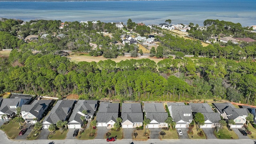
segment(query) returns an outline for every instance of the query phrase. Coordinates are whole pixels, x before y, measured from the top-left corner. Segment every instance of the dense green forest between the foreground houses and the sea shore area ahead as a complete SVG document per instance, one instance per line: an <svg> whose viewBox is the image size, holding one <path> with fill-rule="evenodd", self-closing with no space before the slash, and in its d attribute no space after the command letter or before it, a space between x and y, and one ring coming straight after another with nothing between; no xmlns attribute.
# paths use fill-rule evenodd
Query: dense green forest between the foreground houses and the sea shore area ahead
<svg viewBox="0 0 256 144"><path fill-rule="evenodd" d="M63 29L58 28L61 24L58 20L30 21L23 26L21 23L21 20L11 19L0 22L0 48L12 49L10 56L0 57L0 92L58 98L78 94L80 99L95 100L256 102L255 43L227 46L217 43L203 47L200 41L157 28L155 31L161 33L156 35L159 46L150 53L162 58L158 63L150 59L74 63L55 52L90 51L122 56L122 52L137 51L138 47L116 45L126 33L111 23L65 22ZM131 24L136 31L134 23ZM147 27L144 28L139 26L148 37ZM101 32L110 32L112 38ZM24 42L18 38L30 34L39 35L38 40ZM49 35L41 38L42 34ZM67 36L57 38L57 34ZM98 45L96 50L90 43ZM39 52L34 53L34 50ZM194 54L194 57L187 58L184 54Z"/></svg>

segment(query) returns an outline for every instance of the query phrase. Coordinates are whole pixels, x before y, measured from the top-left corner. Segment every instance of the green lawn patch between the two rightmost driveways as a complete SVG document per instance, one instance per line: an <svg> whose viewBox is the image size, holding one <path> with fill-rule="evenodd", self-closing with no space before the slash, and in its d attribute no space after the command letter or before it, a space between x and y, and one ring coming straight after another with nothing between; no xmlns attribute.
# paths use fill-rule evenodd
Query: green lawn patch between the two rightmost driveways
<svg viewBox="0 0 256 144"><path fill-rule="evenodd" d="M219 139L238 139L238 136L236 133L232 130L228 130L226 126L224 126L219 132L217 133L216 130L214 131L214 134Z"/></svg>

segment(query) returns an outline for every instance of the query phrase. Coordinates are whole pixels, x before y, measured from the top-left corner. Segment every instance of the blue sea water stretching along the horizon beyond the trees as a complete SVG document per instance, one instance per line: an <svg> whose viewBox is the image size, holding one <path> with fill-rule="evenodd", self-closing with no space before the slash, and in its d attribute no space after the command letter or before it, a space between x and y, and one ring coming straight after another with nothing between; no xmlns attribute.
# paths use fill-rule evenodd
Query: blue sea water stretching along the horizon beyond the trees
<svg viewBox="0 0 256 144"><path fill-rule="evenodd" d="M255 0L0 2L0 17L30 20L133 22L203 25L218 19L256 25Z"/></svg>

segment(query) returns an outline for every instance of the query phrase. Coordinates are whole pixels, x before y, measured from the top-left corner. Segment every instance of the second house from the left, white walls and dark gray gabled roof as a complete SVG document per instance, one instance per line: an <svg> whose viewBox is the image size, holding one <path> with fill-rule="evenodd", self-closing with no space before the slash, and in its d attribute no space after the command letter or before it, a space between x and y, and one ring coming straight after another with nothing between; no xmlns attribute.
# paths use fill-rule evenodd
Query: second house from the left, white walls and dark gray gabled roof
<svg viewBox="0 0 256 144"><path fill-rule="evenodd" d="M52 100L34 100L32 104L23 104L21 106L21 116L26 123L35 124L41 120L42 115L50 106ZM36 120L35 120L36 119Z"/></svg>

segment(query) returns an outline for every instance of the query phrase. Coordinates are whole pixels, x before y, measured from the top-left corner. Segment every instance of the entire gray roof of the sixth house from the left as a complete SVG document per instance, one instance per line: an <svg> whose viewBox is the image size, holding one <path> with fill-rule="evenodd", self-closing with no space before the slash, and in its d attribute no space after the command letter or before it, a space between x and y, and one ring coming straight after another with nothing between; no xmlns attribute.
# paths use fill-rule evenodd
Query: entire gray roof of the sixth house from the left
<svg viewBox="0 0 256 144"><path fill-rule="evenodd" d="M122 122L129 120L132 123L143 122L143 113L140 103L122 103Z"/></svg>

